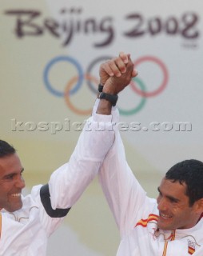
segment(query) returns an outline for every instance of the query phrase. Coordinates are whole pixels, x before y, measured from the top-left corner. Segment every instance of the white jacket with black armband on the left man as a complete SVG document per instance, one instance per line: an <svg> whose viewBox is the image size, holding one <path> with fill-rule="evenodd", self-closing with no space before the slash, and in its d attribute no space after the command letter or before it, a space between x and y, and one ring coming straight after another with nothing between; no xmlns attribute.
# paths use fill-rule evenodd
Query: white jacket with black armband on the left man
<svg viewBox="0 0 203 256"><path fill-rule="evenodd" d="M88 119L70 162L51 175L50 202L54 210L70 208L77 202L86 186L98 174L105 154L113 144L113 131L109 132L112 130L112 116L105 116L105 123L98 127L100 118L102 116L94 114ZM29 195L22 197L22 209L14 213L3 209L0 211L1 256L46 255L47 238L63 218L51 218L46 213L40 196L41 187L34 186Z"/></svg>

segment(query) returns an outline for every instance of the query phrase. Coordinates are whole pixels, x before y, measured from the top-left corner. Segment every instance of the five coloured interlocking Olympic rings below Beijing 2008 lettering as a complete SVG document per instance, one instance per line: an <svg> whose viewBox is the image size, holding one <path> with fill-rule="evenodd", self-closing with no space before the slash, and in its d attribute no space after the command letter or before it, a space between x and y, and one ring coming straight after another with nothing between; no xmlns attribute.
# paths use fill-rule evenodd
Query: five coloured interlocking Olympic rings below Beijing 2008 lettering
<svg viewBox="0 0 203 256"><path fill-rule="evenodd" d="M54 94L57 97L65 98L66 105L76 114L80 115L90 115L92 112L92 108L88 110L79 109L77 106L74 106L73 102L70 101L70 96L76 94L78 90L81 89L82 84L84 81L86 81L87 86L89 89L94 93L98 94L98 78L95 78L94 75L92 75L92 70L94 69L94 66L96 66L99 62L104 62L106 59L110 59L112 56L102 56L95 58L94 61L90 62L90 65L87 67L86 73L83 72L82 66L80 63L70 56L58 56L56 58L53 58L48 62L48 64L45 67L43 79L46 85L47 90L50 91L51 94ZM78 72L78 75L71 78L69 82L66 84L66 88L64 91L55 89L52 83L50 82L50 73L52 68L60 63L60 62L68 62L72 66L74 66ZM159 58L154 56L144 56L141 58L137 58L137 60L134 61L134 66L137 69L137 66L141 65L144 62L152 62L153 64L157 65L159 70L161 70L161 73L163 74L163 78L160 82L160 84L157 86L157 89L153 91L147 91L145 83L141 80L141 78L133 78L130 82L130 90L132 90L135 94L141 97L140 102L136 106L134 106L130 110L123 110L118 106L118 110L120 114L122 115L131 115L136 114L138 111L140 111L143 106L145 106L146 98L157 96L157 94L161 94L163 90L165 90L165 86L167 85L169 81L169 73L168 70L164 64ZM137 69L138 70L138 69Z"/></svg>

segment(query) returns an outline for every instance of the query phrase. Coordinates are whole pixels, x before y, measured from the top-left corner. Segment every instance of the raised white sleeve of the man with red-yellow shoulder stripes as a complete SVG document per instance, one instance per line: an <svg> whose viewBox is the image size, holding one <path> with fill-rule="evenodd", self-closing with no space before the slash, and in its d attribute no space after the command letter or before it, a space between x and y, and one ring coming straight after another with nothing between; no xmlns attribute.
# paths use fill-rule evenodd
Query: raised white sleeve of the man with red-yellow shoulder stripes
<svg viewBox="0 0 203 256"><path fill-rule="evenodd" d="M126 162L125 149L116 126L114 130L115 141L99 171L99 181L122 235L132 229L140 218L147 198Z"/></svg>

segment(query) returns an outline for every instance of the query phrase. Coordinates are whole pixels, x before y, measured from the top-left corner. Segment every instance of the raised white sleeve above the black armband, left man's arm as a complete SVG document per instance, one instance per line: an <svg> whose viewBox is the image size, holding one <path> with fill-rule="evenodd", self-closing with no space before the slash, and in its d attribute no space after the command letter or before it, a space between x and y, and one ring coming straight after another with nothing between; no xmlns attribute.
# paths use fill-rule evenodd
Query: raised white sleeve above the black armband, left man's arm
<svg viewBox="0 0 203 256"><path fill-rule="evenodd" d="M50 177L50 199L53 209L74 205L98 174L105 155L113 145L112 115L94 114L86 122L70 162L55 170Z"/></svg>

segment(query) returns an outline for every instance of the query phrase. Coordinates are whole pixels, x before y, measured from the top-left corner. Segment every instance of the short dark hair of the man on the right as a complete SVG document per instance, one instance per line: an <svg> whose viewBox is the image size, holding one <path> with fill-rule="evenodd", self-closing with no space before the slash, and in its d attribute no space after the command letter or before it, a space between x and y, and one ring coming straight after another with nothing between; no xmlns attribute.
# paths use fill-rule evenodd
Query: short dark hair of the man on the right
<svg viewBox="0 0 203 256"><path fill-rule="evenodd" d="M178 162L167 171L165 178L180 184L185 182L189 206L203 198L203 162L195 159Z"/></svg>

